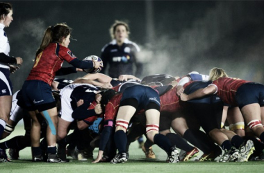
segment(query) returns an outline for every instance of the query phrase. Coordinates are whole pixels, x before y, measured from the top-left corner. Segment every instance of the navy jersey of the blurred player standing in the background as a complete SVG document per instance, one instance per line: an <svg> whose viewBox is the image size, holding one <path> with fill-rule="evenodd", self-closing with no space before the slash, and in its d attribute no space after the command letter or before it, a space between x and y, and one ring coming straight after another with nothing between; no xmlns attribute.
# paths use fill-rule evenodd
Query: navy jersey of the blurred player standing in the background
<svg viewBox="0 0 264 173"><path fill-rule="evenodd" d="M126 39L122 46L118 46L116 41L106 44L101 51L101 60L104 62L104 69L101 73L106 73L106 66L109 64L108 75L111 78L118 78L119 75L134 75L133 64L137 66L137 73L140 75L142 66L136 61L136 53L140 51L137 44Z"/></svg>

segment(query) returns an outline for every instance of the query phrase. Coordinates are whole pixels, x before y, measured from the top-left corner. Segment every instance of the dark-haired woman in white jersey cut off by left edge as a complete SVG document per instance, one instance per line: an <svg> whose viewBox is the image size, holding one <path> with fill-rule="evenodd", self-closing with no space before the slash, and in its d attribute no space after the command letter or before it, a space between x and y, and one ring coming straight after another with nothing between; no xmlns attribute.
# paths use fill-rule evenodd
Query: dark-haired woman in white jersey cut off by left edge
<svg viewBox="0 0 264 173"><path fill-rule="evenodd" d="M3 134L3 129L9 118L12 105L13 86L9 75L15 73L17 66L10 64L21 65L23 60L21 57L10 57L10 45L8 37L3 30L9 27L13 21L13 7L10 3L0 3L0 136ZM10 161L6 152L0 148L0 162Z"/></svg>

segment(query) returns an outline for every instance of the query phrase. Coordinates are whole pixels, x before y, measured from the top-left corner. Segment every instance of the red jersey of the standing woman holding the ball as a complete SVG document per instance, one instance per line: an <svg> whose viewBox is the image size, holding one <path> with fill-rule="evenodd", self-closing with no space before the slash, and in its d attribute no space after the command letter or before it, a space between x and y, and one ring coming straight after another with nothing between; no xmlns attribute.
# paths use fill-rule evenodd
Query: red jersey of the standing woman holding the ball
<svg viewBox="0 0 264 173"><path fill-rule="evenodd" d="M35 58L35 64L26 80L42 80L51 85L56 71L61 68L64 60L71 62L74 59L76 57L69 48L58 43L51 43Z"/></svg>

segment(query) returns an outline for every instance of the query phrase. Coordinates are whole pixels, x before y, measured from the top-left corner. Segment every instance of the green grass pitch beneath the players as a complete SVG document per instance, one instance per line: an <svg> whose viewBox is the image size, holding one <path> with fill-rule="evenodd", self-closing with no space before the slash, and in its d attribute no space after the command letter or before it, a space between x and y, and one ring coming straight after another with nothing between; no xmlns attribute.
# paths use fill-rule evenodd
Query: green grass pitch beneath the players
<svg viewBox="0 0 264 173"><path fill-rule="evenodd" d="M8 138L24 135L22 126L16 127ZM4 141L4 140L3 140ZM1 141L2 142L2 141ZM8 150L7 150L8 152ZM98 149L94 149L94 158ZM249 161L247 163L217 163L217 162L181 162L175 164L165 163L167 155L154 145L156 160L146 160L138 143L132 143L129 150L129 161L122 164L91 163L88 161L76 161L69 157L69 163L33 163L31 162L31 149L19 152L20 160L12 163L0 163L0 173L26 172L26 173L57 173L57 172L264 172L264 161Z"/></svg>

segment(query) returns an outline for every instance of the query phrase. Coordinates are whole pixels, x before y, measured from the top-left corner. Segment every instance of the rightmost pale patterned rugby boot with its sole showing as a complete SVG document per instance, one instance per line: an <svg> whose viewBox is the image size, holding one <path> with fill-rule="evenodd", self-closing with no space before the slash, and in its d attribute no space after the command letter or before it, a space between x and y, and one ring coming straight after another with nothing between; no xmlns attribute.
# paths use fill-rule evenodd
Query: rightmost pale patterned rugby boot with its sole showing
<svg viewBox="0 0 264 173"><path fill-rule="evenodd" d="M242 143L242 145L239 147L238 162L247 162L249 156L253 154L254 150L255 147L252 140L247 140L247 142Z"/></svg>

